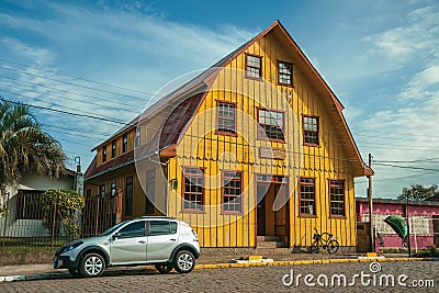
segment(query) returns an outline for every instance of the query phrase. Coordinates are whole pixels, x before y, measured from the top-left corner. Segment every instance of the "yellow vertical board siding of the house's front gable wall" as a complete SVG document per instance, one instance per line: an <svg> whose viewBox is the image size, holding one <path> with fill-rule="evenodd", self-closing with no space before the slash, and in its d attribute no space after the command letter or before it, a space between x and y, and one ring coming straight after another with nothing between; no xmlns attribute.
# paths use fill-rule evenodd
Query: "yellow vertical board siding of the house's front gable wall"
<svg viewBox="0 0 439 293"><path fill-rule="evenodd" d="M199 109L199 116L192 120L180 139L177 158L170 161L170 179L177 179L180 184L169 195L168 214L195 227L204 247L256 246L256 173L289 178L290 246L309 246L314 228L337 235L342 246L356 246L353 178L346 151L348 146L338 135L341 126L334 121L330 108L322 98L323 91L303 72L307 68L300 66L300 56L279 38L279 34L268 33L245 52L261 56L266 81L245 78L245 54L218 72ZM278 60L293 64L293 87L278 84ZM215 134L217 101L236 104L237 136ZM257 120L258 108L284 113L285 143L256 139L256 124L251 122ZM303 146L302 115L318 116L319 146ZM285 149L285 160L260 158L260 147ZM224 155L227 153L233 155L227 158ZM183 213L181 209L184 182L181 168L190 166L205 169L204 213ZM243 171L243 215L221 212L218 187L224 169ZM299 216L297 179L301 176L316 178L316 217ZM329 216L328 179L345 180L345 217Z"/></svg>

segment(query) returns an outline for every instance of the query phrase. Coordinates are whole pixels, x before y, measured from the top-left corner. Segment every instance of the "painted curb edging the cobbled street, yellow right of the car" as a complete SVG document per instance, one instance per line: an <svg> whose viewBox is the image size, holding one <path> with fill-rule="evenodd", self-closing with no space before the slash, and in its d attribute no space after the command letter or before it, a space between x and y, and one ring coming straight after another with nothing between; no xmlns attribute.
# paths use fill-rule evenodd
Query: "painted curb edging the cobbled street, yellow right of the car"
<svg viewBox="0 0 439 293"><path fill-rule="evenodd" d="M439 261L439 258L364 258L364 259L314 259L314 260L277 260L270 262L248 262L248 263L211 263L196 264L194 270L206 269L229 269L249 267L272 267L272 266L305 266L305 264L329 264L329 263L354 263L354 262L387 262L387 261ZM32 281L69 278L67 272L59 273L31 273L0 277L0 282Z"/></svg>

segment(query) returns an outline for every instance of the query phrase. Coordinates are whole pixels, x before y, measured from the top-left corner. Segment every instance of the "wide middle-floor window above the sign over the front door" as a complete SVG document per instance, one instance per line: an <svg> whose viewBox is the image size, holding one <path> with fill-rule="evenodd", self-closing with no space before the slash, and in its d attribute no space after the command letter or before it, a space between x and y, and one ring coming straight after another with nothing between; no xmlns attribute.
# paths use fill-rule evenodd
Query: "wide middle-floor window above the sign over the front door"
<svg viewBox="0 0 439 293"><path fill-rule="evenodd" d="M259 134L259 138L273 140L285 140L283 135L283 112L259 109L258 122L264 133Z"/></svg>

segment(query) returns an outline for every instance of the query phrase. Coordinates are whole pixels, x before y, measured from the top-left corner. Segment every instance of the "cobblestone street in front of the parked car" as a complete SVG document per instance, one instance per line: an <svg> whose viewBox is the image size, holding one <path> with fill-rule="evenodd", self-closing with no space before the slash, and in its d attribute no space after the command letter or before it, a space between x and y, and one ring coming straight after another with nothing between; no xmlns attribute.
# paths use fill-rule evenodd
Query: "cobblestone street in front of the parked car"
<svg viewBox="0 0 439 293"><path fill-rule="evenodd" d="M109 272L97 279L2 282L0 292L439 292L438 264L359 262L211 269L165 275Z"/></svg>

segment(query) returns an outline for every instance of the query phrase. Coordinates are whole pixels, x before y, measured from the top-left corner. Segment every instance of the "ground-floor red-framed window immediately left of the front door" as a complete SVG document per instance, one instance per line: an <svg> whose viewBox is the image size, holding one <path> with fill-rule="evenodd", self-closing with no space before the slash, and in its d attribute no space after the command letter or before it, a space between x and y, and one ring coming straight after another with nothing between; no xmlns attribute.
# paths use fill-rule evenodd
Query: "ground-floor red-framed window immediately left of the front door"
<svg viewBox="0 0 439 293"><path fill-rule="evenodd" d="M235 171L223 171L223 212L243 212L243 173Z"/></svg>

